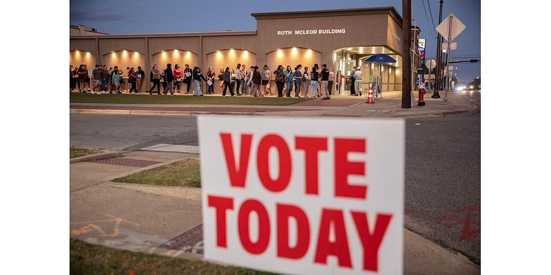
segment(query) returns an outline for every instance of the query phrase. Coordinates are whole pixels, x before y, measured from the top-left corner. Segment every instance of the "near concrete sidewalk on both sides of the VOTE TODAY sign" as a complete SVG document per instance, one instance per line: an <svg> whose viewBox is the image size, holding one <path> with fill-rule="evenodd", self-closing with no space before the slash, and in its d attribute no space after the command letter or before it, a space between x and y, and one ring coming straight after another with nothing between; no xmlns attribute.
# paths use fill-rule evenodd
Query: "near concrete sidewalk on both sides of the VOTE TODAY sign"
<svg viewBox="0 0 551 275"><path fill-rule="evenodd" d="M200 188L112 182L198 154L120 153L129 162L149 165L140 168L90 159L70 164L70 236L110 248L202 259ZM404 274L480 274L480 269L466 257L404 228Z"/></svg>

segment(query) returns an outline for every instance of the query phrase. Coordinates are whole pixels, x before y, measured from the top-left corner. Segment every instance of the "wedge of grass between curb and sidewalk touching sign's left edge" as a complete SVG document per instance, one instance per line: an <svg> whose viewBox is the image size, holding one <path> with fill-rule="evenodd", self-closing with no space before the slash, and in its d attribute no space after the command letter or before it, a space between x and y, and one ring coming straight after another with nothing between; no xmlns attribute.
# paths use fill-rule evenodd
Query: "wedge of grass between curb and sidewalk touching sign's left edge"
<svg viewBox="0 0 551 275"><path fill-rule="evenodd" d="M129 184L201 187L199 159L184 159L127 177L119 177L113 181Z"/></svg>

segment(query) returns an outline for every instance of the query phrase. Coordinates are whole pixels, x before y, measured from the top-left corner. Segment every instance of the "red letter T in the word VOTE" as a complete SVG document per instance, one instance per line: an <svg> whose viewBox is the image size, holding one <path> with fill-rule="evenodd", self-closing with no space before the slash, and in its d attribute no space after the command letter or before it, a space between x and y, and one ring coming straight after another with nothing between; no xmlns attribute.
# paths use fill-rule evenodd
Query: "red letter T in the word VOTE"
<svg viewBox="0 0 551 275"><path fill-rule="evenodd" d="M327 138L295 137L295 147L304 150L306 194L318 195L318 152L327 151Z"/></svg>

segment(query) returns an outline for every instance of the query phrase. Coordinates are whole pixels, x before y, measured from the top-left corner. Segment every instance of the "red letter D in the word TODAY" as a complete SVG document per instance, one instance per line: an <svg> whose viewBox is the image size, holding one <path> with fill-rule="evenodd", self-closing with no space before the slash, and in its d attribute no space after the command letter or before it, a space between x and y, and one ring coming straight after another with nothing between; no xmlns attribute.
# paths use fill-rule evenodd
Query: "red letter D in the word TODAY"
<svg viewBox="0 0 551 275"><path fill-rule="evenodd" d="M278 257L300 259L308 251L310 245L310 224L306 213L297 206L276 204L278 225ZM294 248L289 245L289 218L297 222L297 244Z"/></svg>

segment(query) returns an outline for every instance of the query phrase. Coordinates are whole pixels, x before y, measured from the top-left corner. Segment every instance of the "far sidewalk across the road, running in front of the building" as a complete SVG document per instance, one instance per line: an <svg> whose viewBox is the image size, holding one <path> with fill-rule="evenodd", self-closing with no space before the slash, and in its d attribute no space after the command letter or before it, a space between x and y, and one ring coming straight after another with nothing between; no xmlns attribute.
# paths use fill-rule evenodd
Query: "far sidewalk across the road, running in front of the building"
<svg viewBox="0 0 551 275"><path fill-rule="evenodd" d="M417 106L417 92L413 94L412 107L402 109L402 95L399 91L388 91L383 98L375 98L374 104L366 104L361 97L333 96L331 100L314 99L289 106L262 105L167 105L167 104L98 104L71 103L71 113L111 113L127 115L278 115L278 116L334 116L351 118L399 118L438 117L463 113L477 113L480 107L468 97L448 93L439 99L426 94L424 107ZM281 100L286 100L282 98Z"/></svg>

